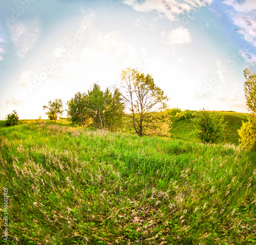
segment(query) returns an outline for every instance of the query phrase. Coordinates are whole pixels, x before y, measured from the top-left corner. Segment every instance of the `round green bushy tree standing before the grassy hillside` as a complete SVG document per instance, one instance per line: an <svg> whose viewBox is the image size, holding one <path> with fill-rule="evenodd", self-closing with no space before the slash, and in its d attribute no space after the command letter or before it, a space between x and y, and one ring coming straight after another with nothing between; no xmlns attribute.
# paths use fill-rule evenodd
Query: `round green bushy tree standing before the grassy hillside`
<svg viewBox="0 0 256 245"><path fill-rule="evenodd" d="M203 108L194 121L198 129L196 136L202 143L217 143L223 138L226 126L223 117L218 119L214 112Z"/></svg>

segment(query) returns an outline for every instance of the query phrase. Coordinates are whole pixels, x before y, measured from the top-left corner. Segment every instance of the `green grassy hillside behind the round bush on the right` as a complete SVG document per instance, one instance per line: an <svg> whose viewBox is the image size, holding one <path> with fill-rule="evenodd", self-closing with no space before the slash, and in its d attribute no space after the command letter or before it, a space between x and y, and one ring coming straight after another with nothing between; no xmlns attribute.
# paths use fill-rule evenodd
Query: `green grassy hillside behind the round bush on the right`
<svg viewBox="0 0 256 245"><path fill-rule="evenodd" d="M238 145L237 130L241 128L242 121L247 121L247 114L234 112L216 112L216 114L219 117L223 116L224 122L227 122L224 142ZM173 122L172 126L173 128L170 130L172 138L199 142L195 135L196 127L190 120L179 120Z"/></svg>

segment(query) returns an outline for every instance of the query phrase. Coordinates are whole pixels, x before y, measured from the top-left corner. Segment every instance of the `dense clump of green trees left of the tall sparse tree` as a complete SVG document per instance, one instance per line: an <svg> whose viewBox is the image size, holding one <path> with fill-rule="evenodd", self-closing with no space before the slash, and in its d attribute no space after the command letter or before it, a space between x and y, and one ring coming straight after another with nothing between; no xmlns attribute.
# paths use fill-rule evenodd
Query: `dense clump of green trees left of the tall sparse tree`
<svg viewBox="0 0 256 245"><path fill-rule="evenodd" d="M111 93L94 83L88 94L78 92L68 101L68 116L80 125L116 131L122 127L123 115L124 103L117 88Z"/></svg>

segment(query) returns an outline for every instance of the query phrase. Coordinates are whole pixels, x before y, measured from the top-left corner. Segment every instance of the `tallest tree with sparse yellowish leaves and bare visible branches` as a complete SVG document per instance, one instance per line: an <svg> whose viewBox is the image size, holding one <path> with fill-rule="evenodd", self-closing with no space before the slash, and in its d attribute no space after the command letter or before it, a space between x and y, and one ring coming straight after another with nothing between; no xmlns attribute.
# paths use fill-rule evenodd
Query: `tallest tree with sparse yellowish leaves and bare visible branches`
<svg viewBox="0 0 256 245"><path fill-rule="evenodd" d="M166 107L168 97L155 84L150 74L127 68L121 74L122 97L130 113L135 132L146 135L145 129L152 125L152 113Z"/></svg>

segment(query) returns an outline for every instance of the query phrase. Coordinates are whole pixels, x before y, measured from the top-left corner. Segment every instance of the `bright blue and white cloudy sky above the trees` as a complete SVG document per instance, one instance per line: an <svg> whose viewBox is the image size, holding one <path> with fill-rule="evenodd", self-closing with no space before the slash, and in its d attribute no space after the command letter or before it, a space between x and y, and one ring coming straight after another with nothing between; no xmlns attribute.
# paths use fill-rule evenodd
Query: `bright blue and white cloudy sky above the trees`
<svg viewBox="0 0 256 245"><path fill-rule="evenodd" d="M246 113L255 64L255 0L0 0L0 120L46 119L49 100L118 87L128 67L170 108Z"/></svg>

